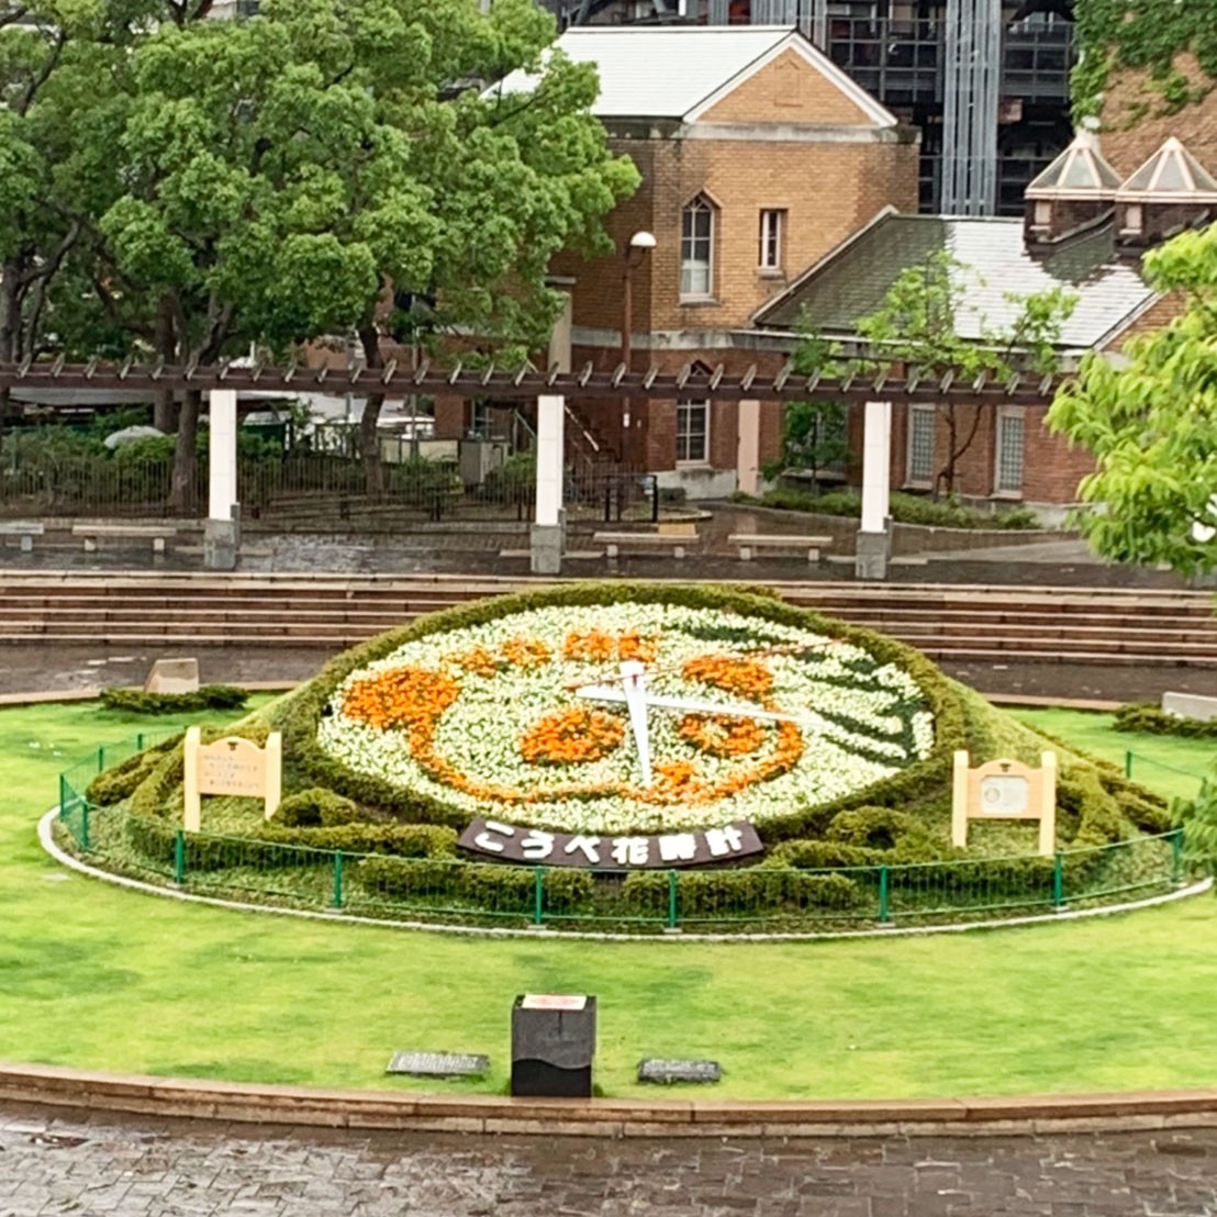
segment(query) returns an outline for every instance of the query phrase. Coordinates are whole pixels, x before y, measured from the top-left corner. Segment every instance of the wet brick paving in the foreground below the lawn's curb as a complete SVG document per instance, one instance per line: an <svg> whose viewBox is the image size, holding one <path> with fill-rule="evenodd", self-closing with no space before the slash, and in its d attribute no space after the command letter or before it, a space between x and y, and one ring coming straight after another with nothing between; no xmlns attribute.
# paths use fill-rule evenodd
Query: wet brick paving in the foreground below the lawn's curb
<svg viewBox="0 0 1217 1217"><path fill-rule="evenodd" d="M1210 1217L1217 1128L584 1139L0 1106L0 1217Z"/></svg>

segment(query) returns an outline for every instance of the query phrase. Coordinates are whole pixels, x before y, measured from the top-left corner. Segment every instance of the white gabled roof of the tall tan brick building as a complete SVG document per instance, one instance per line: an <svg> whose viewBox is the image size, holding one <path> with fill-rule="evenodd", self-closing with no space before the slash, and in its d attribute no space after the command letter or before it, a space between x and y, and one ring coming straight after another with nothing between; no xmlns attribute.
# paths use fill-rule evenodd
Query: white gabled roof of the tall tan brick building
<svg viewBox="0 0 1217 1217"><path fill-rule="evenodd" d="M576 26L557 47L577 63L595 63L604 119L668 118L692 122L779 55L795 51L845 92L876 127L897 119L801 33L786 26ZM523 92L537 84L512 72L493 89Z"/></svg>

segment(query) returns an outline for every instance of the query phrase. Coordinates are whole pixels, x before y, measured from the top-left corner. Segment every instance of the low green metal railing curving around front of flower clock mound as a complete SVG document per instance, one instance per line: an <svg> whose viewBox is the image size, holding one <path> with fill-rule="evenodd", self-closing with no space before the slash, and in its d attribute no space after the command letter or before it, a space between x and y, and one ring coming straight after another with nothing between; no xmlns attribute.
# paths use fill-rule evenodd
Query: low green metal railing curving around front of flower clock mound
<svg viewBox="0 0 1217 1217"><path fill-rule="evenodd" d="M1165 894L1184 881L1179 829L1051 858L589 871L187 834L167 819L90 803L95 775L168 738L99 748L60 775L66 843L103 869L252 903L437 924L746 933L1000 919Z"/></svg>

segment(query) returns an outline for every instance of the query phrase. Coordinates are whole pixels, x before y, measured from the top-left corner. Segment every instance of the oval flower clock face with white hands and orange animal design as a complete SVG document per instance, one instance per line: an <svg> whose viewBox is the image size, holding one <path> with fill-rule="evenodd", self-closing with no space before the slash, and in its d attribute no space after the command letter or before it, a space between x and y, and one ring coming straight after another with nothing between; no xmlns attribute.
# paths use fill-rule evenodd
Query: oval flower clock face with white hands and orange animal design
<svg viewBox="0 0 1217 1217"><path fill-rule="evenodd" d="M881 781L929 753L933 720L901 668L806 628L675 604L551 605L353 672L318 742L471 818L672 832Z"/></svg>

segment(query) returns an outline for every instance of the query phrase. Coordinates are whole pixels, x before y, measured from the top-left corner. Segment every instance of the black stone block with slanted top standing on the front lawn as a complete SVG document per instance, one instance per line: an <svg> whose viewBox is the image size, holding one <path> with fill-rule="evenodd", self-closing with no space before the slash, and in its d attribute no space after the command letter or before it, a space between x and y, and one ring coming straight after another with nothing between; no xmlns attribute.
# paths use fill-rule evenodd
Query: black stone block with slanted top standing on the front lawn
<svg viewBox="0 0 1217 1217"><path fill-rule="evenodd" d="M511 1008L511 1093L590 1099L596 999L528 993Z"/></svg>

